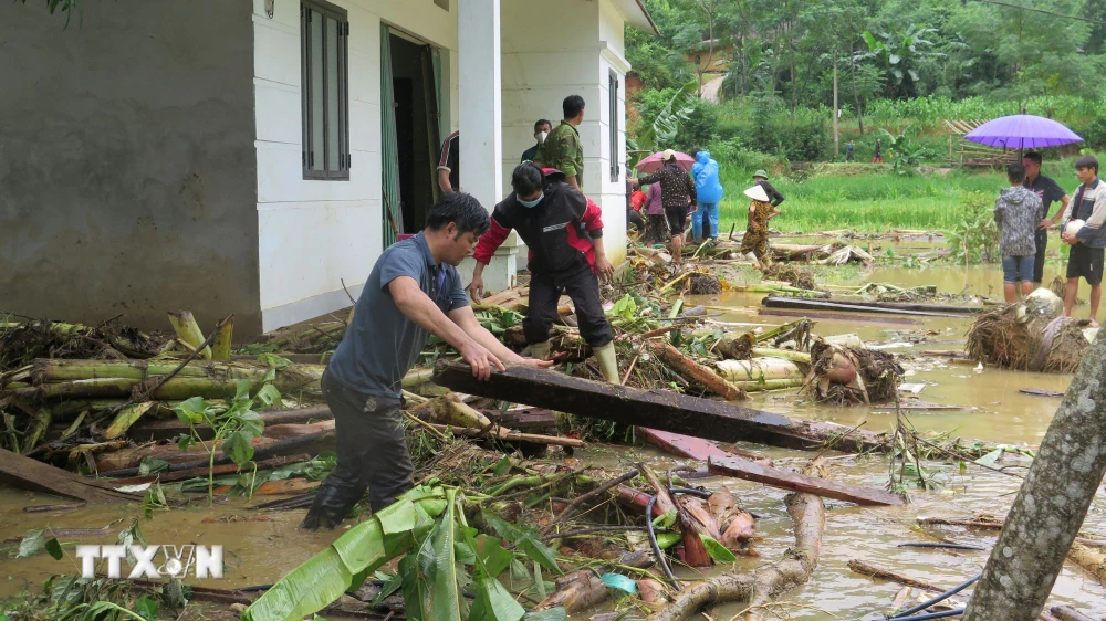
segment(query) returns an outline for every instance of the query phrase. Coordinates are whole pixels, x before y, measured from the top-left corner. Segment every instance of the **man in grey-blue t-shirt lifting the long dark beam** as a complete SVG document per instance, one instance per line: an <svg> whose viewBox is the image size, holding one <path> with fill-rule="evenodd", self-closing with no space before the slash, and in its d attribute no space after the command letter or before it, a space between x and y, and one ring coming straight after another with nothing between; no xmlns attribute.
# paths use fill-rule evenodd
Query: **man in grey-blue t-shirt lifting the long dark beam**
<svg viewBox="0 0 1106 621"><path fill-rule="evenodd" d="M488 230L488 211L462 192L441 197L426 230L384 251L365 283L353 323L323 372L334 414L337 464L300 525L334 528L368 487L374 512L410 488L401 425L403 380L435 334L480 379L503 362L549 367L508 349L477 320L456 265Z"/></svg>

